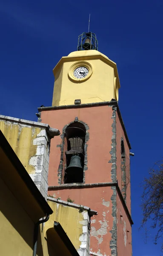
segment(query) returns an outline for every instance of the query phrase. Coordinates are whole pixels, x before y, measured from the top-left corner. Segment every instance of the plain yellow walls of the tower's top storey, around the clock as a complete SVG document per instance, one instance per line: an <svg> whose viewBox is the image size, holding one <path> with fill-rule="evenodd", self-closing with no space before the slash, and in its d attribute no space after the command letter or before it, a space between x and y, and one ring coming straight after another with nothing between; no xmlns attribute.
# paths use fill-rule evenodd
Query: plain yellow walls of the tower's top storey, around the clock
<svg viewBox="0 0 163 256"><path fill-rule="evenodd" d="M92 65L92 76L84 81L69 78L69 69L75 63L86 61ZM82 64L81 64L82 66ZM63 57L53 70L54 93L52 105L74 105L75 99L81 103L105 102L116 99L114 79L120 87L116 64L102 53L89 50L72 52Z"/></svg>

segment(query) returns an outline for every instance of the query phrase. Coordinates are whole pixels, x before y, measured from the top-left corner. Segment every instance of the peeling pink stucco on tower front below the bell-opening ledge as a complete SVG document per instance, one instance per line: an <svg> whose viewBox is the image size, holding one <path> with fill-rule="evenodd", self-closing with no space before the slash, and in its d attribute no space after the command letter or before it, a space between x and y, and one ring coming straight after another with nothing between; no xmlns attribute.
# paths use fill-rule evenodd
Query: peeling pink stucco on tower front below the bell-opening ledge
<svg viewBox="0 0 163 256"><path fill-rule="evenodd" d="M67 201L74 200L74 204L81 204L98 212L91 218L90 250L102 255L111 255L110 241L112 234L112 189L111 187L82 188L82 189L60 189L49 191L55 198Z"/></svg>

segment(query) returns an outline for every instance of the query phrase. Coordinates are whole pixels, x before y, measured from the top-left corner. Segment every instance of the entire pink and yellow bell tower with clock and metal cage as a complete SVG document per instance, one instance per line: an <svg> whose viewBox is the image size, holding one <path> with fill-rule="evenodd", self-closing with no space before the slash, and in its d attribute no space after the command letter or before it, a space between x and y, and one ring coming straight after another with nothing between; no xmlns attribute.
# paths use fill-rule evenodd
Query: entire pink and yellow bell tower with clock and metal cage
<svg viewBox="0 0 163 256"><path fill-rule="evenodd" d="M48 193L98 212L90 244L81 236L76 248L80 256L132 256L131 145L118 107L117 65L88 32L53 73L52 106L37 114L62 131L51 139Z"/></svg>

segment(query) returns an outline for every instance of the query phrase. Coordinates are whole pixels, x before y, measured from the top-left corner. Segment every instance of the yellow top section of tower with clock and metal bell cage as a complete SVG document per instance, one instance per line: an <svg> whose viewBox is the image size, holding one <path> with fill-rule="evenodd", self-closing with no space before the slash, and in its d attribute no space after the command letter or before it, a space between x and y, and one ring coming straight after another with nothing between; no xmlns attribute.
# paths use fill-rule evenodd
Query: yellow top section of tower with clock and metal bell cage
<svg viewBox="0 0 163 256"><path fill-rule="evenodd" d="M52 106L118 100L120 81L117 65L97 51L97 39L92 33L79 36L77 51L62 57L54 67Z"/></svg>

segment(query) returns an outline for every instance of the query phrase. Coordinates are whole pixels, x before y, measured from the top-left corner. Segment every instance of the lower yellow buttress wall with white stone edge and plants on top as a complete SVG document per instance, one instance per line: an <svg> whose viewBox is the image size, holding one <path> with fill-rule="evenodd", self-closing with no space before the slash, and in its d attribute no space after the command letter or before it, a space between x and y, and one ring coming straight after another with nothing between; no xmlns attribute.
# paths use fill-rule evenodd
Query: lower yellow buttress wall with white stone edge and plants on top
<svg viewBox="0 0 163 256"><path fill-rule="evenodd" d="M66 234L69 236L74 247L80 256L89 256L90 250L90 216L97 214L89 207L62 201L53 197L48 197L48 203L53 209L50 222L57 221L61 224Z"/></svg>

